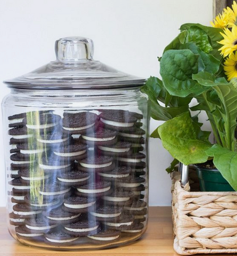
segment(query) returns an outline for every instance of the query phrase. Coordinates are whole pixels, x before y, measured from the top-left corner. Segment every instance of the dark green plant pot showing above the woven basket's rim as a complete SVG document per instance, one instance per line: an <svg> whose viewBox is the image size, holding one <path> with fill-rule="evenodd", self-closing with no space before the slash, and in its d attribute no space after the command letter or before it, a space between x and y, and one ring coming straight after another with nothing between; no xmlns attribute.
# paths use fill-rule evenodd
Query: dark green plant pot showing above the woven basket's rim
<svg viewBox="0 0 237 256"><path fill-rule="evenodd" d="M195 166L198 172L201 191L235 191L217 169Z"/></svg>

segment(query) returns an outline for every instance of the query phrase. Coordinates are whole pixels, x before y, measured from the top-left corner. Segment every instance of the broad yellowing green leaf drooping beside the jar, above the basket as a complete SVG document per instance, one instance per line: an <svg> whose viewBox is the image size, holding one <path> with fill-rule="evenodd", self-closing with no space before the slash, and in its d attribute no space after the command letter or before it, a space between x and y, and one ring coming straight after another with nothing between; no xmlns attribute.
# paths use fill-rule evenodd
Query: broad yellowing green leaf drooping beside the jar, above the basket
<svg viewBox="0 0 237 256"><path fill-rule="evenodd" d="M198 139L200 130L200 127L193 125L189 112L158 127L164 148L185 165L204 163L208 159L204 151L210 148L211 144L209 141Z"/></svg>

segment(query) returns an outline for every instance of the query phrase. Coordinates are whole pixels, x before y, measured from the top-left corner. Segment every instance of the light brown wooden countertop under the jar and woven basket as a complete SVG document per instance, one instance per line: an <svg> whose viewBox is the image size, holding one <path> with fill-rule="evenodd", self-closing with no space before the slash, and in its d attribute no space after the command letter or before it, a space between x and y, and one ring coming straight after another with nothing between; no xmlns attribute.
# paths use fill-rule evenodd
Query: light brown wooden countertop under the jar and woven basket
<svg viewBox="0 0 237 256"><path fill-rule="evenodd" d="M0 208L0 255L3 256L177 256L173 250L171 207L149 207L146 233L138 241L106 250L53 251L15 241L7 231L5 208ZM196 254L198 255L198 254ZM204 254L202 254L204 255ZM209 254L210 255L210 254ZM211 254L215 256L234 254ZM237 254L235 254L237 255Z"/></svg>

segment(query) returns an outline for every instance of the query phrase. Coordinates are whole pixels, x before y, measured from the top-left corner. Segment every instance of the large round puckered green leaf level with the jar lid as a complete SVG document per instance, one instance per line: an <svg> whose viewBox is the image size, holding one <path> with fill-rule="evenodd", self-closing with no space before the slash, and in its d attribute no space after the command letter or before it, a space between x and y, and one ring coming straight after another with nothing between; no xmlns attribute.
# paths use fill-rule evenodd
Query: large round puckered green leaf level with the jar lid
<svg viewBox="0 0 237 256"><path fill-rule="evenodd" d="M168 50L160 61L160 75L166 90L177 97L187 97L189 94L199 95L205 90L192 74L198 73L199 55L190 50Z"/></svg>

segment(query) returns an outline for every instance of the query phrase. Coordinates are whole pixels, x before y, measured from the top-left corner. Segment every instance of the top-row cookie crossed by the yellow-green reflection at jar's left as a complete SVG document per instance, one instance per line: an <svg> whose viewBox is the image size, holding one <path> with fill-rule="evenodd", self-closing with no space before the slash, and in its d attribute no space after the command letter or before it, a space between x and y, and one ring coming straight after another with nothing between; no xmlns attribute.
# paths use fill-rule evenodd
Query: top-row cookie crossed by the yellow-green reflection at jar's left
<svg viewBox="0 0 237 256"><path fill-rule="evenodd" d="M41 132L55 130L56 126L60 124L61 116L51 113L47 114L32 114L23 119L23 124L28 130ZM57 130L57 129L56 129Z"/></svg>

